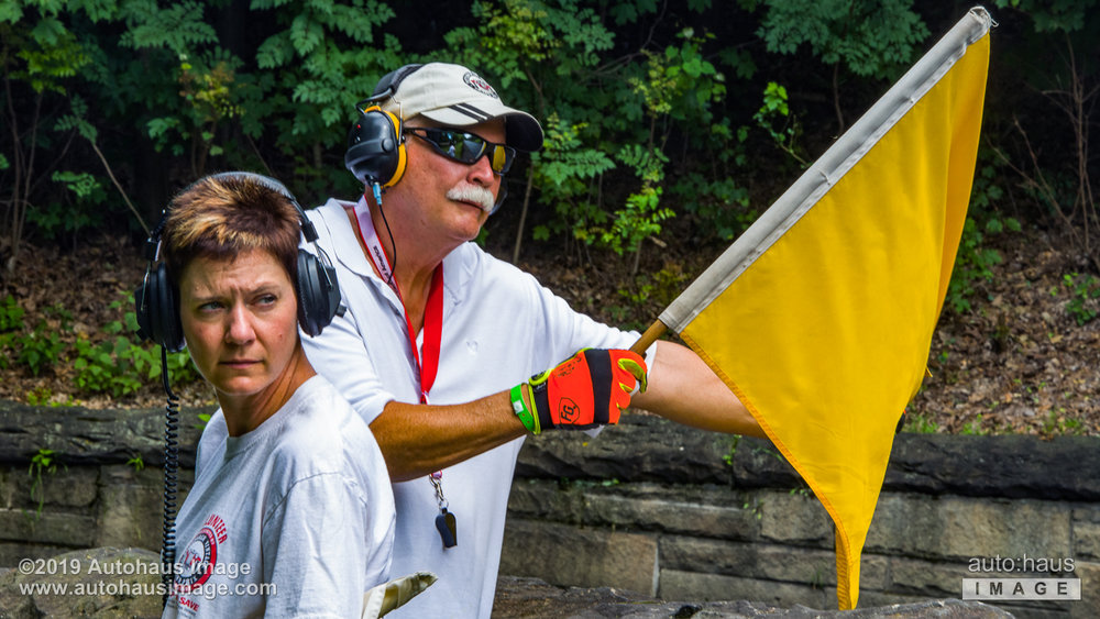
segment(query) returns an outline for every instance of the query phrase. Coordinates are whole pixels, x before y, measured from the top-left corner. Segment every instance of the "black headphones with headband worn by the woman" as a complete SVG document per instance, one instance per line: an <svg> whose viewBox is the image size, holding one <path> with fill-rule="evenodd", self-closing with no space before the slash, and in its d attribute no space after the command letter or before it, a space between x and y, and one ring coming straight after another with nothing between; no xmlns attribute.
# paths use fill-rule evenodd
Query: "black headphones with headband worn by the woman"
<svg viewBox="0 0 1100 619"><path fill-rule="evenodd" d="M341 311L343 308L340 306L340 286L337 283L337 272L324 250L317 244L317 229L306 217L294 195L274 178L251 172L223 172L196 183L208 179L234 178L252 180L283 195L298 212L301 220L301 234L307 242L314 244L314 248L317 251L317 255L314 255L298 248L298 276L294 283L298 296L298 324L310 336L320 334L321 329L332 322L333 316L343 313ZM187 192L194 186L195 184L191 184L183 192ZM145 258L148 261L148 266L145 268L145 278L142 280L142 285L134 290L134 310L140 338L152 340L168 351L178 352L184 350L186 345L184 329L179 321L178 295L168 280L167 267L163 262L158 262L161 234L164 232L167 214L168 211L165 210L161 222L145 241Z"/></svg>

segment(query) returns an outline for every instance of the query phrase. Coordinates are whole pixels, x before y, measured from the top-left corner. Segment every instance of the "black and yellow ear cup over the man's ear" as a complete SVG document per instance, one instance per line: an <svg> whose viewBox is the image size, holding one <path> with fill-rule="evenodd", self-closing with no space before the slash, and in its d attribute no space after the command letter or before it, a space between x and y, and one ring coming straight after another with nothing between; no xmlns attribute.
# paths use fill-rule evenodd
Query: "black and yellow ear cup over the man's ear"
<svg viewBox="0 0 1100 619"><path fill-rule="evenodd" d="M348 132L344 166L363 183L392 187L405 174L402 121L377 107L360 111Z"/></svg>

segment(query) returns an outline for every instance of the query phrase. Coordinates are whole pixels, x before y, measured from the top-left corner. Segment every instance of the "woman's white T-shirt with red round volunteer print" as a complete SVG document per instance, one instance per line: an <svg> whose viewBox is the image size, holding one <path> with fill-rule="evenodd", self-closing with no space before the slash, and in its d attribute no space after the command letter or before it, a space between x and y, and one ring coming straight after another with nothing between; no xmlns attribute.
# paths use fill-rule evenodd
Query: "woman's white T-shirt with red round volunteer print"
<svg viewBox="0 0 1100 619"><path fill-rule="evenodd" d="M164 617L359 617L386 582L389 474L370 428L322 376L240 436L219 409L176 520L182 574Z"/></svg>

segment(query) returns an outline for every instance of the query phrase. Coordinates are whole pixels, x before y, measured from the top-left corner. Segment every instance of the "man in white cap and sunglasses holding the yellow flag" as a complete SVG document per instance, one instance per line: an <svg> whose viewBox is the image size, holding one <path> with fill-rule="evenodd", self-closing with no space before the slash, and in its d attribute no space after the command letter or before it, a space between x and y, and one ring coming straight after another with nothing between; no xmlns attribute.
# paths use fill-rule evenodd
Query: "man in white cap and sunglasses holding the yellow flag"
<svg viewBox="0 0 1100 619"><path fill-rule="evenodd" d="M470 69L442 63L387 75L364 103L378 107L353 126L346 162L365 195L310 212L348 311L304 343L385 455L397 504L394 571L439 575L404 612L488 617L522 438L617 421L630 401L624 389L647 382L641 358L620 350L638 335L573 312L469 242L498 206L516 151L542 145L531 115L504 106ZM570 358L584 347L615 350ZM762 435L690 350L659 342L647 356L648 388L634 404Z"/></svg>

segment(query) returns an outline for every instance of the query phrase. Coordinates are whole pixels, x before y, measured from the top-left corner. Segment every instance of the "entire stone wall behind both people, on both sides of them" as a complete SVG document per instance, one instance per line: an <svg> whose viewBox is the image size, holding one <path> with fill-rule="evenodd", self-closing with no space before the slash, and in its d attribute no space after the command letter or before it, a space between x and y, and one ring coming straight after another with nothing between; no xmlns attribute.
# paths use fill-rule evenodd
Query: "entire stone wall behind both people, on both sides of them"
<svg viewBox="0 0 1100 619"><path fill-rule="evenodd" d="M199 412L182 413L179 504ZM0 568L82 548L157 550L162 443L160 410L0 401ZM57 467L36 484L29 469L41 449L54 450ZM141 469L128 464L135 457ZM1009 559L1033 568L1024 562L1071 559L1075 568L969 571ZM640 414L595 439L527 441L502 574L668 600L836 608L832 523L769 443ZM859 606L957 598L963 578L1010 576L1081 579L1081 601L1001 605L1018 616L1100 615L1100 439L900 434Z"/></svg>

